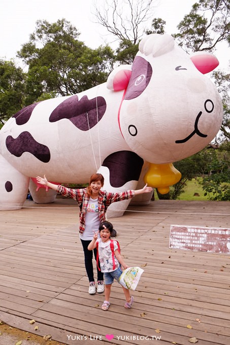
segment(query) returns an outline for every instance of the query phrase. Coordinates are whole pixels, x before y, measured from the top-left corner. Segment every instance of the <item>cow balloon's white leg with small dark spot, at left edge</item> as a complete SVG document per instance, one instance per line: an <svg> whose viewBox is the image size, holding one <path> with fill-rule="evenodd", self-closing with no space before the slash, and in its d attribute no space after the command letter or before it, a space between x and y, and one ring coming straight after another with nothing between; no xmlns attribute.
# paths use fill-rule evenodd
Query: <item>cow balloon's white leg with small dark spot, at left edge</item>
<svg viewBox="0 0 230 345"><path fill-rule="evenodd" d="M28 192L29 178L0 155L0 211L21 209Z"/></svg>

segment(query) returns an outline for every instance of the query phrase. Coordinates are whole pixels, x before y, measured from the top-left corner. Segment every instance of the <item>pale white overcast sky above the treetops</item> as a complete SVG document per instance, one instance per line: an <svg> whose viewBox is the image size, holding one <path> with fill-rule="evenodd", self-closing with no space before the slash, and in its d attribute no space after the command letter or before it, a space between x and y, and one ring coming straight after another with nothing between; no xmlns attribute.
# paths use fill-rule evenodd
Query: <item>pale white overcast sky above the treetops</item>
<svg viewBox="0 0 230 345"><path fill-rule="evenodd" d="M95 1L95 0L94 0ZM104 0L97 0L102 3ZM175 33L176 26L191 10L195 0L158 0L154 17L166 21L167 33ZM29 34L35 31L37 20L56 22L65 18L81 33L79 40L90 48L108 43L112 46L114 37L99 24L93 23L93 0L1 0L0 11L0 58L11 59L28 42ZM151 26L151 22L149 28ZM223 44L215 52L219 67L227 68L229 54ZM229 52L229 50L228 50Z"/></svg>

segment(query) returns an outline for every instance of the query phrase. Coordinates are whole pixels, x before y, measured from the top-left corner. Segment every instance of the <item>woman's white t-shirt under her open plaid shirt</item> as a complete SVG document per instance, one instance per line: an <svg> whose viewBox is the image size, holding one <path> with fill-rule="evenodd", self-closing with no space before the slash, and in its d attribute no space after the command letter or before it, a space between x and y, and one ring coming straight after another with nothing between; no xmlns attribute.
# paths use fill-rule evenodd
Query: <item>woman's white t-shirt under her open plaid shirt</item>
<svg viewBox="0 0 230 345"><path fill-rule="evenodd" d="M80 238L83 240L92 240L93 231L97 232L100 225L100 218L98 214L98 200L89 198L87 203L87 210L85 214L85 230Z"/></svg>

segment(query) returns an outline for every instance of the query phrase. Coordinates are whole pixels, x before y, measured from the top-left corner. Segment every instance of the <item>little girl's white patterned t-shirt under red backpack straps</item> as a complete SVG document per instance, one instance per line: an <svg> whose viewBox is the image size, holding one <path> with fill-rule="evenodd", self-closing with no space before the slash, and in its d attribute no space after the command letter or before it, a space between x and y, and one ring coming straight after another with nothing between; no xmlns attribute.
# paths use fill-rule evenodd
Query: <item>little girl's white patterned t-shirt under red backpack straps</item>
<svg viewBox="0 0 230 345"><path fill-rule="evenodd" d="M115 268L113 269L113 258L112 258L112 251L110 247L110 240L107 242L103 242L100 237L97 239L97 241L98 241L98 254L99 254L101 271L102 272L115 271L120 266L120 264L114 255ZM115 252L118 249L117 241L113 240L113 244L114 244L114 252Z"/></svg>

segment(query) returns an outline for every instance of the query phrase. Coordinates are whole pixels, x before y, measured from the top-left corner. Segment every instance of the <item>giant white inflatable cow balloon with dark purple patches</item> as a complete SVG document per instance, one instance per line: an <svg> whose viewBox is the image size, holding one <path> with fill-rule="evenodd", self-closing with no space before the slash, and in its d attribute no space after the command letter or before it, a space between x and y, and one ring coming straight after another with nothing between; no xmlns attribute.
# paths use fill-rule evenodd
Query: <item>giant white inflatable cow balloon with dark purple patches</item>
<svg viewBox="0 0 230 345"><path fill-rule="evenodd" d="M204 76L217 65L211 53L188 56L171 36L150 34L107 83L22 109L0 131L0 209L21 208L28 188L35 202L54 201L53 190L32 182L44 174L82 184L98 171L107 191L145 181L166 193L180 179L172 163L202 150L220 128L221 99ZM114 216L128 202L112 204Z"/></svg>

